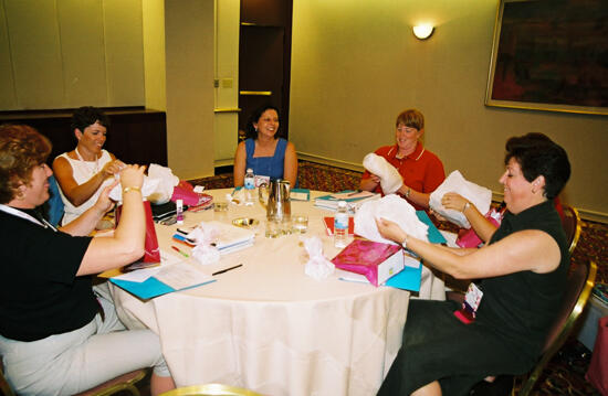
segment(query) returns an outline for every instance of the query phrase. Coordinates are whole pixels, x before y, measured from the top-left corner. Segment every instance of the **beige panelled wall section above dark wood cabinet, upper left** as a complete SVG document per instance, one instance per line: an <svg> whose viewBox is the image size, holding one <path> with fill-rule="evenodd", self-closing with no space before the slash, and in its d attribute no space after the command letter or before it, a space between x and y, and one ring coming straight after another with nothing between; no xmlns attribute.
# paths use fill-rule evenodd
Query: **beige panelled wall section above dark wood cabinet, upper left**
<svg viewBox="0 0 608 396"><path fill-rule="evenodd" d="M0 109L140 106L141 0L0 0Z"/></svg>

